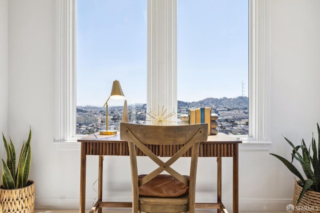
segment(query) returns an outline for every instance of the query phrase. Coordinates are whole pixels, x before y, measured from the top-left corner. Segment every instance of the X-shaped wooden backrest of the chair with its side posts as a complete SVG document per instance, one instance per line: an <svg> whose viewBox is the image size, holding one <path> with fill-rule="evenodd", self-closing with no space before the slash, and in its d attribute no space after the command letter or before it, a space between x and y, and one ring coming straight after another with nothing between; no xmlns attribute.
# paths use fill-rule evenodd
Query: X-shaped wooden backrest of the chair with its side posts
<svg viewBox="0 0 320 213"><path fill-rule="evenodd" d="M150 181L164 170L188 186L189 202L193 203L191 206L194 207L199 142L206 141L207 139L207 123L170 126L120 123L120 138L128 141L131 162L133 208L138 205L139 186ZM148 148L150 145L169 145L172 146L172 149L175 151L167 161L163 162L162 159ZM158 165L156 169L140 179L138 178L137 171L136 146ZM190 175L188 179L172 169L170 165L188 151L190 147L192 147L192 149Z"/></svg>

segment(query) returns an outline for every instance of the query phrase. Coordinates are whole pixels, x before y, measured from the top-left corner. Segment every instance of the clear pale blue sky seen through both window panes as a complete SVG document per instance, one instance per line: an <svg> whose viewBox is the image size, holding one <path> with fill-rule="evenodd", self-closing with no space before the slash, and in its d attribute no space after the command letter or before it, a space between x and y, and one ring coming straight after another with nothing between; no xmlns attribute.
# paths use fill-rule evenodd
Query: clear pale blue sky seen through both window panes
<svg viewBox="0 0 320 213"><path fill-rule="evenodd" d="M77 0L77 105L146 103L146 0ZM178 0L178 100L248 95L247 0ZM137 95L138 94L138 95Z"/></svg>

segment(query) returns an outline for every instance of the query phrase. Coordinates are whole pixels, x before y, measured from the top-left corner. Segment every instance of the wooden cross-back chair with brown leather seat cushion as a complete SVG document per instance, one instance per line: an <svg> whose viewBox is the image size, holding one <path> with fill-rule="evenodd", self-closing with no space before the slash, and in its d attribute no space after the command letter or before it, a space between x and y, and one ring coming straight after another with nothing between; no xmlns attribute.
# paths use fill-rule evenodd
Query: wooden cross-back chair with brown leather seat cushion
<svg viewBox="0 0 320 213"><path fill-rule="evenodd" d="M194 212L195 176L199 142L207 139L207 123L170 126L120 123L120 138L128 141L129 147L132 178L132 212ZM171 150L175 150L166 154L170 155L170 158L165 162L154 154L154 152L157 153L157 151L154 151L155 147L159 148L161 145L172 146ZM138 149L136 149L136 146ZM191 147L190 174L186 177L172 169L170 165ZM153 150L150 150L150 148ZM145 176L139 175L138 177L136 153L139 153L139 151L151 158L158 167ZM167 171L170 175L160 174L162 171ZM162 184L159 182L162 181L161 179L169 183L167 185L165 185L166 183ZM172 184L174 184L173 187L171 187ZM164 185L165 189L161 188L162 185ZM180 186L186 187L186 193L178 196L172 195L171 189L173 189L173 194L185 189L180 188ZM175 189L174 187L180 189ZM159 188L161 189L160 192L155 191ZM150 192L149 195L144 194L148 191ZM167 194L170 197L166 197Z"/></svg>

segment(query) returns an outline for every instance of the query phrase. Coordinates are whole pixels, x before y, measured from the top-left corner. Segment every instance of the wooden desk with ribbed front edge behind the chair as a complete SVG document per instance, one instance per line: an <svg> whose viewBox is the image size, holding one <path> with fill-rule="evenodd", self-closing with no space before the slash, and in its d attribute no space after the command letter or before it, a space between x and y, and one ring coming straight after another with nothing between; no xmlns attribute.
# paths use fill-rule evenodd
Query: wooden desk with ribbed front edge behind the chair
<svg viewBox="0 0 320 213"><path fill-rule="evenodd" d="M85 172L86 155L99 155L98 169L98 199L90 212L101 213L101 207L131 207L131 202L105 202L102 201L102 162L103 155L129 155L127 141L120 140L120 135L88 135L81 139L81 167L80 167L80 213L85 210ZM233 157L233 213L238 212L238 144L241 141L223 133L210 135L207 141L200 143L199 157L216 157L217 161L217 202L195 203L196 208L217 208L218 213L227 212L221 201L221 157ZM152 145L151 150L158 156L171 156L175 153L175 146ZM187 151L184 156L189 156ZM137 150L137 155L143 153Z"/></svg>

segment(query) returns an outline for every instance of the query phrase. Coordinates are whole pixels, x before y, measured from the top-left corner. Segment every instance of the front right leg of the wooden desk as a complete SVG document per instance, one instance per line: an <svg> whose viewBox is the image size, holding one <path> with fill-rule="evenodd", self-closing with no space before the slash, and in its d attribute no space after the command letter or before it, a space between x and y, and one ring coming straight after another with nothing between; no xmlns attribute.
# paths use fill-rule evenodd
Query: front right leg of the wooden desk
<svg viewBox="0 0 320 213"><path fill-rule="evenodd" d="M238 213L238 205L239 205L239 188L238 188L238 149L239 144L234 143L233 144L233 213Z"/></svg>

